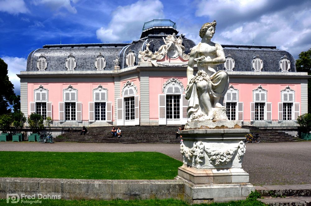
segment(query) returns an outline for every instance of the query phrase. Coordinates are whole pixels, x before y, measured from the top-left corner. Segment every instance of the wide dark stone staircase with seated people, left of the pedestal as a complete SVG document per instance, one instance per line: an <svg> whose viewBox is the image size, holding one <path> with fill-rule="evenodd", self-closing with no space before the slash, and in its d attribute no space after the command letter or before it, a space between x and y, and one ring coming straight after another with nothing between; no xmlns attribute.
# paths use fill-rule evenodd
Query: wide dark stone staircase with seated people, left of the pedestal
<svg viewBox="0 0 311 206"><path fill-rule="evenodd" d="M173 126L122 126L122 137L112 137L112 127L89 127L89 134L80 135L81 129L66 129L55 141L105 142L105 143L179 143L176 132L180 125ZM117 129L117 128L116 128Z"/></svg>

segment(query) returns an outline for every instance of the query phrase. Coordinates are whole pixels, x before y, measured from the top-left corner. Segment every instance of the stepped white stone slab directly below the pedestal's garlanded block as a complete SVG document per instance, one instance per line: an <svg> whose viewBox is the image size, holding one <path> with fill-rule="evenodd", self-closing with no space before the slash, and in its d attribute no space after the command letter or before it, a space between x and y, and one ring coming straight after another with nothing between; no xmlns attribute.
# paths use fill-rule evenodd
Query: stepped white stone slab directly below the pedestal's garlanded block
<svg viewBox="0 0 311 206"><path fill-rule="evenodd" d="M249 174L242 168L198 169L183 164L178 168L179 178L193 184L248 183Z"/></svg>

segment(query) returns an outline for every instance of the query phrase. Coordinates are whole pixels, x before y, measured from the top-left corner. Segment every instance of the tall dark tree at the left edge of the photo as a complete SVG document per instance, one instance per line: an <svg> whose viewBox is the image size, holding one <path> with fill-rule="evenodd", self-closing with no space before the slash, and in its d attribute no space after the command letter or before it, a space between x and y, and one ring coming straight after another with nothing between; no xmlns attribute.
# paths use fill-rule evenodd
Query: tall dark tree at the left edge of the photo
<svg viewBox="0 0 311 206"><path fill-rule="evenodd" d="M11 113L9 104L13 104L16 97L13 91L14 86L7 76L7 64L0 58L0 115Z"/></svg>

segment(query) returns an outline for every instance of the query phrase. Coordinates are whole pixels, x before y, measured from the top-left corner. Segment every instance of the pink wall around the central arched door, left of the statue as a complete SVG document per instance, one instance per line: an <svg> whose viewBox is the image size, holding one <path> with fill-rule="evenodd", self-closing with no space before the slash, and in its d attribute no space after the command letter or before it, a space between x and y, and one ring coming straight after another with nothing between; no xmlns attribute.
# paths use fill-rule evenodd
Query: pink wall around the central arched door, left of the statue
<svg viewBox="0 0 311 206"><path fill-rule="evenodd" d="M170 78L176 77L149 77L149 117L150 120L159 119L159 94L162 93L163 84ZM178 80L183 83L183 87L186 89L187 78L178 77ZM183 93L184 94L184 93Z"/></svg>

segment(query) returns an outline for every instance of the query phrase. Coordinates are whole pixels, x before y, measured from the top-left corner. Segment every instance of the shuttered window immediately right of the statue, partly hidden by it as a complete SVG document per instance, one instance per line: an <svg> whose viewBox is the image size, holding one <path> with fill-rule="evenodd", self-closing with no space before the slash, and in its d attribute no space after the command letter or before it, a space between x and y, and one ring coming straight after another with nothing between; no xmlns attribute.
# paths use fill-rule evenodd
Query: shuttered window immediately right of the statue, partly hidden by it
<svg viewBox="0 0 311 206"><path fill-rule="evenodd" d="M243 121L243 102L239 102L239 90L230 85L224 97L224 106L227 108L227 117L229 120Z"/></svg>

